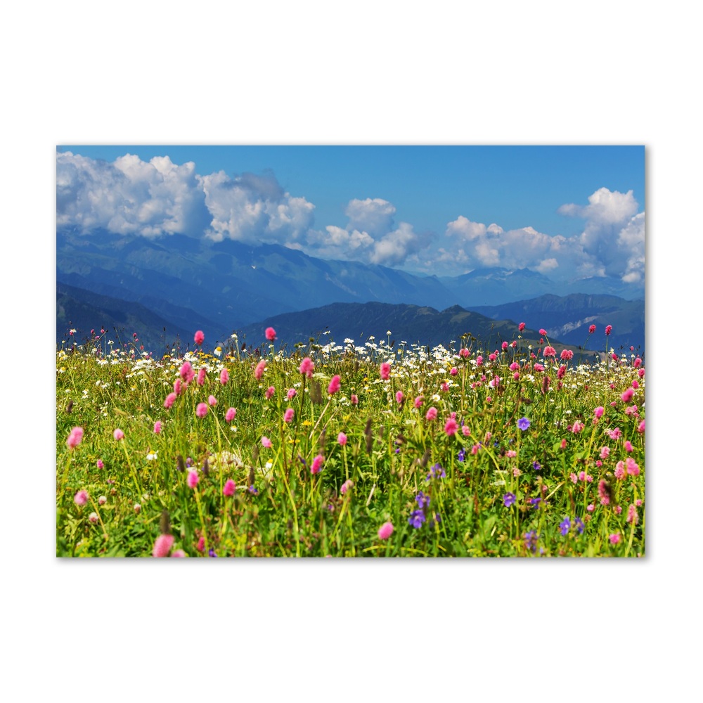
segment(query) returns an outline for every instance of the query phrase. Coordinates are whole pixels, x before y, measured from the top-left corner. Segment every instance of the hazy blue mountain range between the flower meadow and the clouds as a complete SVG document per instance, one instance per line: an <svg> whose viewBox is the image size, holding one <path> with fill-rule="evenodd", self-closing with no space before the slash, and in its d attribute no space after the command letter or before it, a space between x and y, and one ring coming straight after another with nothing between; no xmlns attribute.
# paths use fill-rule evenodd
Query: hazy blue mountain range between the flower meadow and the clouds
<svg viewBox="0 0 703 703"><path fill-rule="evenodd" d="M513 333L499 322L514 327L522 321L533 332L546 328L550 341L576 345L588 339L588 325L595 321L597 327L613 325L613 344L644 346L644 301L626 299L643 297L643 291L631 292L616 279L560 284L565 295L556 296L552 280L527 269L480 269L440 278L323 261L279 245L107 231L89 236L58 231L56 244L57 341L65 339L68 328L86 334L115 327L131 337L134 327L145 348L160 350L176 337L192 344L193 331L200 329L214 346L237 330L254 335L258 328L260 336L273 319L279 337L290 325L291 334L306 342L331 322L339 328L335 340L340 342L344 337L359 342L361 333L378 338L387 330L408 343L431 346L465 332L510 340ZM334 306L342 303L350 305ZM303 318L292 316L301 311ZM605 337L588 348L603 344Z"/></svg>

